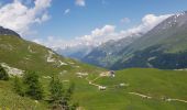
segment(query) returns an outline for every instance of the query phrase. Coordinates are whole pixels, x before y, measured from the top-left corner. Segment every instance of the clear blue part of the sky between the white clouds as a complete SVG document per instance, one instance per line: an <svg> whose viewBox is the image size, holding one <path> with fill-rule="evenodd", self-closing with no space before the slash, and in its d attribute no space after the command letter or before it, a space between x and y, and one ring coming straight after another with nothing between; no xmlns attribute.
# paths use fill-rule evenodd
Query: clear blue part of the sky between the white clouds
<svg viewBox="0 0 187 110"><path fill-rule="evenodd" d="M75 6L75 0L54 0L50 8L51 20L40 25L40 36L72 38L89 34L106 24L117 30L127 29L141 22L148 13L166 14L187 10L187 0L86 0L85 7ZM70 9L68 14L64 14ZM130 23L120 20L129 18Z"/></svg>

